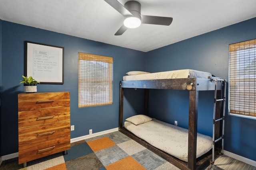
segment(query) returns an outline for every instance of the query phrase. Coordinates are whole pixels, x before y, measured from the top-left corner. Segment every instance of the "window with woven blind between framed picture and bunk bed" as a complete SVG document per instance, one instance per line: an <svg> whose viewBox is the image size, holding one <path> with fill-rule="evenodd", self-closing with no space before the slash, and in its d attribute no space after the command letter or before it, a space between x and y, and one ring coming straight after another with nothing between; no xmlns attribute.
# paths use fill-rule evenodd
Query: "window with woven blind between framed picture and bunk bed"
<svg viewBox="0 0 256 170"><path fill-rule="evenodd" d="M112 104L113 58L78 53L78 107Z"/></svg>

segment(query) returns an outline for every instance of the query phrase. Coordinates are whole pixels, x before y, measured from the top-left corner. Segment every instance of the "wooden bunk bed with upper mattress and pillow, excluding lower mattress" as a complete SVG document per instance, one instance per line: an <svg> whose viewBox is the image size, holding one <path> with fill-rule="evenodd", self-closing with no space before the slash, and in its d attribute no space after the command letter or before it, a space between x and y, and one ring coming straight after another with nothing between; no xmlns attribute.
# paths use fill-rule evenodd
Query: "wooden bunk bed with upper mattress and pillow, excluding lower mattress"
<svg viewBox="0 0 256 170"><path fill-rule="evenodd" d="M220 81L219 81L220 80ZM182 170L196 170L202 169L207 166L210 161L214 162L214 155L223 153L223 133L222 126L219 120L224 123L223 115L223 101L216 102L216 98L222 98L223 92L223 80L212 76L208 72L200 72L196 70L174 70L168 72L128 72L128 76L123 77L123 81L120 81L120 94L119 94L119 123L118 129L120 132L124 133L131 139L134 139L147 149L158 154L168 162L174 164ZM226 87L226 86L225 86ZM137 137L124 127L124 89L134 88L134 89L144 89L144 115L148 115L148 97L150 89L170 89L170 90L188 90L189 91L189 123L188 123L188 158L187 162L180 160L175 156L172 156L163 150L160 150L140 137ZM213 147L206 154L203 154L199 158L196 158L196 142L197 142L197 116L198 116L198 92L214 90L214 126L213 126ZM217 120L217 121L216 121ZM215 140L218 138L218 140ZM222 143L219 143L222 139ZM216 143L215 143L216 142ZM216 146L216 148L214 147ZM219 151L221 150L220 153Z"/></svg>

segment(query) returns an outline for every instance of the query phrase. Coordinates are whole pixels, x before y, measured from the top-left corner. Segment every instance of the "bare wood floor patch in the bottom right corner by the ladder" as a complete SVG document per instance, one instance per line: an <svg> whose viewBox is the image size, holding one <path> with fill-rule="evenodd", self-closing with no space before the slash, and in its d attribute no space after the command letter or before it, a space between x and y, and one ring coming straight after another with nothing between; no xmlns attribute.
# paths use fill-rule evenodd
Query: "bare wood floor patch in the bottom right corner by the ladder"
<svg viewBox="0 0 256 170"><path fill-rule="evenodd" d="M246 164L226 155L220 155L214 161L214 165L224 170L256 170L255 166Z"/></svg>

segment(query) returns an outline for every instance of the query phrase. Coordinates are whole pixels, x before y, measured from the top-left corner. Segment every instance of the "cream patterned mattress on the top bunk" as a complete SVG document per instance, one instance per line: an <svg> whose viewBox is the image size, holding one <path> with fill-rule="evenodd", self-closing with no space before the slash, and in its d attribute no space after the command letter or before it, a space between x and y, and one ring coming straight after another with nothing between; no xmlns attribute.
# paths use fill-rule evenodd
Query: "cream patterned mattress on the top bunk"
<svg viewBox="0 0 256 170"><path fill-rule="evenodd" d="M212 76L209 72L197 70L172 70L164 72L154 72L148 74L136 74L123 76L124 81L128 80L159 80L159 79L172 79L172 78L208 78Z"/></svg>

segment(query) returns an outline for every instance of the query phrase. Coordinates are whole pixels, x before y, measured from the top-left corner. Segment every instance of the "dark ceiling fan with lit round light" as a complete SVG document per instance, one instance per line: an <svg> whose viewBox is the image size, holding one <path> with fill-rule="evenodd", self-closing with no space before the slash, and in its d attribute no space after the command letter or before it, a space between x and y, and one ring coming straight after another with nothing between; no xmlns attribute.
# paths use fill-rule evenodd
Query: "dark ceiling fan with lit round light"
<svg viewBox="0 0 256 170"><path fill-rule="evenodd" d="M115 33L115 35L122 35L128 28L136 28L141 23L155 24L155 25L170 25L172 23L171 17L159 16L144 16L140 14L141 5L137 1L128 1L122 6L117 0L104 0L120 14L124 16L124 23Z"/></svg>

